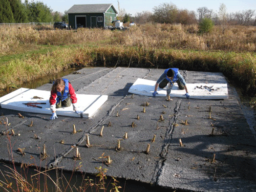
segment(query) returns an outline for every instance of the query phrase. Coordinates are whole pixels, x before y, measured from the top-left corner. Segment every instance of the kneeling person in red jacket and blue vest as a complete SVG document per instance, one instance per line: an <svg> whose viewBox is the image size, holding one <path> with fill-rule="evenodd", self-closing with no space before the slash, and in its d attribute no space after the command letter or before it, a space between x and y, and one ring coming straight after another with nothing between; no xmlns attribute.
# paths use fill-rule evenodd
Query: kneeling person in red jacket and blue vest
<svg viewBox="0 0 256 192"><path fill-rule="evenodd" d="M82 111L77 111L76 93L68 79L59 78L54 81L49 102L52 111L51 120L58 118L56 109L65 108L70 106L71 103L76 113L83 113Z"/></svg>

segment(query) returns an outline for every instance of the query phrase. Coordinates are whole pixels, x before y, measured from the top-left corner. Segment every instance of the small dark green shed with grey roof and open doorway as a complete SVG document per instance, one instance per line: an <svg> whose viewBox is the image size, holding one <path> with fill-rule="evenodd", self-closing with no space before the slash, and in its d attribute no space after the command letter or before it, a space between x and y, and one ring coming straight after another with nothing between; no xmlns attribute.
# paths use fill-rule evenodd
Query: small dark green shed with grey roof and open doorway
<svg viewBox="0 0 256 192"><path fill-rule="evenodd" d="M117 15L113 4L73 5L65 13L69 16L69 26L72 29L103 28L111 25Z"/></svg>

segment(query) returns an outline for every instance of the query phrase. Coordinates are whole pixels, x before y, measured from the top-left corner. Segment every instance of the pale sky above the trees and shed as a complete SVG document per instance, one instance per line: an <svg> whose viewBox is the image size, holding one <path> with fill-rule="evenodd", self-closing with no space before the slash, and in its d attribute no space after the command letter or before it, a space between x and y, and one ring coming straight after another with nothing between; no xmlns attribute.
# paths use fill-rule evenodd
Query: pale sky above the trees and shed
<svg viewBox="0 0 256 192"><path fill-rule="evenodd" d="M29 0L31 2L33 0ZM34 0L35 2L42 2L47 7L50 7L54 12L65 13L73 5L80 4L113 4L115 9L118 11L118 1L117 0ZM24 2L24 0L22 0ZM142 11L150 11L153 13L153 8L158 7L163 3L172 3L176 5L178 9L187 9L188 11L197 12L198 8L206 7L207 9L212 9L214 12L218 13L221 4L226 6L228 13L242 12L243 10L256 10L255 0L119 0L119 5L121 9L124 9L127 14L132 14L135 16L136 13ZM256 15L256 11L255 14Z"/></svg>

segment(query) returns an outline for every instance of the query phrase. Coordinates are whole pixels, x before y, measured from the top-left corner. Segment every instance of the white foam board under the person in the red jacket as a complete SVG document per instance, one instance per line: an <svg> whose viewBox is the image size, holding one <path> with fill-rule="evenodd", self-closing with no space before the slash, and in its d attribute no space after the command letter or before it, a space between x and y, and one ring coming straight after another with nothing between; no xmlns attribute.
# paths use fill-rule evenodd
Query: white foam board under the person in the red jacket
<svg viewBox="0 0 256 192"><path fill-rule="evenodd" d="M20 88L12 93L9 93L0 98L1 108L40 113L40 114L52 114L50 109L50 91L41 91L35 89L26 89ZM41 97L41 99L34 98ZM108 95L84 95L76 94L77 97L77 111L83 111L82 114L77 114L73 110L73 105L66 108L56 109L56 114L61 116L68 117L85 117L89 118L100 108L100 106L108 100ZM37 108L34 106L27 106L24 103L46 103L46 104L37 104L42 108Z"/></svg>

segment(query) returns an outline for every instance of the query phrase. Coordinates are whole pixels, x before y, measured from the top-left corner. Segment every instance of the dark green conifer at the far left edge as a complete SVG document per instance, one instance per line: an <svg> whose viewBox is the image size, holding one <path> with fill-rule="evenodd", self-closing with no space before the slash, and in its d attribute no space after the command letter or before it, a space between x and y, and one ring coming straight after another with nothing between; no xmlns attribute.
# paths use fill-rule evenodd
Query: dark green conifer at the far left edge
<svg viewBox="0 0 256 192"><path fill-rule="evenodd" d="M9 1L0 0L0 23L15 23Z"/></svg>

